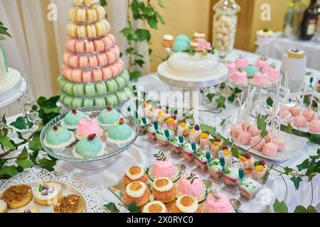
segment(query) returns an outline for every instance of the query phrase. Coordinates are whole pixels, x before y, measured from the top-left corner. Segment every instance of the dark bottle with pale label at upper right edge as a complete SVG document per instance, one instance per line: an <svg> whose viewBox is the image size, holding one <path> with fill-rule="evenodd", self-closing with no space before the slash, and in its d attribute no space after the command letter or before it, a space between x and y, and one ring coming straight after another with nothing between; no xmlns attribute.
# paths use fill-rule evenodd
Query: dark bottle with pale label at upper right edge
<svg viewBox="0 0 320 227"><path fill-rule="evenodd" d="M311 0L309 7L304 11L300 34L302 40L311 40L316 33L316 25L318 23L318 7L316 2L317 0Z"/></svg>

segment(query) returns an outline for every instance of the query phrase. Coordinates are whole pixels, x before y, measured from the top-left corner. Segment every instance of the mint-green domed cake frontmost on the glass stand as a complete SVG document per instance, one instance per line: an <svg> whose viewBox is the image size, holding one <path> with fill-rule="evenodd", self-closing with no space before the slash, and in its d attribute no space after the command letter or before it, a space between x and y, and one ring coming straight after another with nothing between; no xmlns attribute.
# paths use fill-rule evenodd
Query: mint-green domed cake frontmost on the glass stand
<svg viewBox="0 0 320 227"><path fill-rule="evenodd" d="M97 139L97 135L88 135L81 139L73 149L73 156L77 158L99 157L105 155L105 143Z"/></svg>

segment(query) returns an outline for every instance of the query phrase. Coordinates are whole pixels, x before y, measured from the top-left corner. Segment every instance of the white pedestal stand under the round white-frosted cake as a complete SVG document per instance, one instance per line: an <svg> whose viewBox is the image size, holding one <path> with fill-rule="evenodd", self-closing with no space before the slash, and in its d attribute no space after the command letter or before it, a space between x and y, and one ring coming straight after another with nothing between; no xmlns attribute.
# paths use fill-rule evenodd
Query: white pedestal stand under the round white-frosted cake
<svg viewBox="0 0 320 227"><path fill-rule="evenodd" d="M190 92L193 94L193 92L199 92L200 89L203 87L212 87L218 84L222 84L228 79L228 67L223 65L222 63L219 63L218 69L213 72L208 77L181 77L176 76L174 74L171 74L167 70L168 63L163 62L158 67L158 77L161 79L162 82L165 82L166 84L169 84L170 89L172 90L172 87L181 87L183 89L183 98L185 97L185 92ZM189 107L190 109L194 109L195 106L193 106L194 101L193 95L190 96L189 101ZM184 103L184 100L183 100ZM198 100L198 104L201 103L200 100Z"/></svg>

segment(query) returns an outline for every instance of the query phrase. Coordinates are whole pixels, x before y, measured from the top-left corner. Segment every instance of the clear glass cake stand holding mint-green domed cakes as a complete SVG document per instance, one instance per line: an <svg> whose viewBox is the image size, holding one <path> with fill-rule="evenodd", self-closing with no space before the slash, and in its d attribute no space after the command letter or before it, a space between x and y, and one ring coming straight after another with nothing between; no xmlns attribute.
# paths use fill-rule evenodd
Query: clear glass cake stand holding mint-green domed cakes
<svg viewBox="0 0 320 227"><path fill-rule="evenodd" d="M91 118L97 117L97 115L102 111L103 108L81 108L78 109L79 111L83 111ZM119 113L122 113L120 109L117 109ZM56 153L52 149L47 148L43 140L46 138L46 135L48 132L53 128L53 126L60 126L61 121L63 121L63 118L65 115L68 114L68 112L65 112L64 114L61 114L60 116L57 116L52 121L50 121L44 128L43 131L41 131L41 145L43 147L43 150L48 153L48 155L57 158L58 160L63 160L65 162L72 162L75 166L79 167L83 170L98 170L103 167L107 167L114 162L117 155L127 150L129 147L132 146L132 144L137 140L138 136L138 130L139 130L139 124L137 121L137 118L134 116L129 116L129 114L122 113L122 116L124 118L124 122L127 123L130 128L132 128L132 131L134 132L134 138L130 140L127 143L124 143L122 145L114 145L112 143L108 143L105 139L102 139L102 143L105 143L105 155L99 156L99 157L87 157L87 158L77 158L73 156L73 148L75 148L75 145L78 143L78 140L76 140L73 144L69 145L67 148L65 148L65 151L63 153ZM71 133L74 133L71 131ZM107 131L105 131L107 133Z"/></svg>

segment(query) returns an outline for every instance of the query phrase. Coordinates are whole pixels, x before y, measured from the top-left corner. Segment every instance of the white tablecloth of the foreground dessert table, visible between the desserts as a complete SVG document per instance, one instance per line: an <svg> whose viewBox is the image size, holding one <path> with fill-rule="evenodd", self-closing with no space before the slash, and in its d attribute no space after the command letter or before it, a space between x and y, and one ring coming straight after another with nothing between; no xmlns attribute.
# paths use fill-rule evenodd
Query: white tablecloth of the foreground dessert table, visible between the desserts
<svg viewBox="0 0 320 227"><path fill-rule="evenodd" d="M255 60L258 56L249 52L243 52L240 50L235 50L232 52L228 58L233 59L238 55L246 55L252 60ZM277 62L277 60L275 60ZM320 75L320 72L315 70L310 70L314 73L315 76ZM168 85L161 82L161 80L157 77L156 73L146 75L139 79L137 82L139 86L144 86L144 91L154 91L154 92L161 92L161 91L169 91L170 88ZM217 126L222 118L226 116L232 116L235 112L235 106L228 104L227 109L224 110L220 114L208 114L208 112L200 112L199 117L204 121L206 124L211 126ZM9 121L14 121L17 116L13 116L9 119ZM299 153L294 155L290 160L286 162L277 163L278 165L288 166L294 168L296 165L303 162L309 155L316 154L316 150L319 148L319 145L314 145L312 143L307 143L304 148L299 150ZM105 201L107 204L110 201L113 201L115 204L119 204L119 200L116 196L109 191L108 187L116 184L122 177L127 169L132 165L141 165L142 167L149 167L154 162L154 153L158 153L159 150L163 150L157 143L151 143L148 140L146 135L139 136L137 141L134 145L127 150L127 152L121 153L117 156L116 160L107 167L106 169L100 170L80 170L75 165L59 161L58 164L55 166L56 170L62 169L68 171L71 175L75 173L79 173L86 177L87 179L92 180L99 187L102 187L102 190L107 194L108 201ZM169 149L168 149L169 151ZM210 179L208 173L201 172L200 169L196 168L194 164L188 163L186 160L183 160L181 156L172 154L171 157L173 158L174 162L176 163L183 163L187 166L187 171L197 172L203 179ZM272 164L272 162L268 162ZM31 170L29 170L31 171ZM302 204L304 206L309 206L311 201L311 187L309 182L302 182L298 191L295 190L294 184L290 181L289 177L284 176L284 179L288 185L288 192L287 192L287 199L286 202L289 206L289 211L294 211L294 208ZM229 199L232 198L240 198L238 190L229 189L227 187L222 186L223 182L219 184L213 181L213 187L217 188L218 191L223 192L229 196ZM314 177L313 179L313 189L314 189L314 199L312 202L313 206L317 206L320 203L320 176ZM246 212L272 212L272 204L274 203L275 199L279 199L279 201L284 200L286 195L286 187L282 180L282 177L277 175L277 172L270 172L270 178L267 183L263 186L260 192L257 194L255 199L252 201L242 201L241 209ZM319 211L319 206L318 206Z"/></svg>

